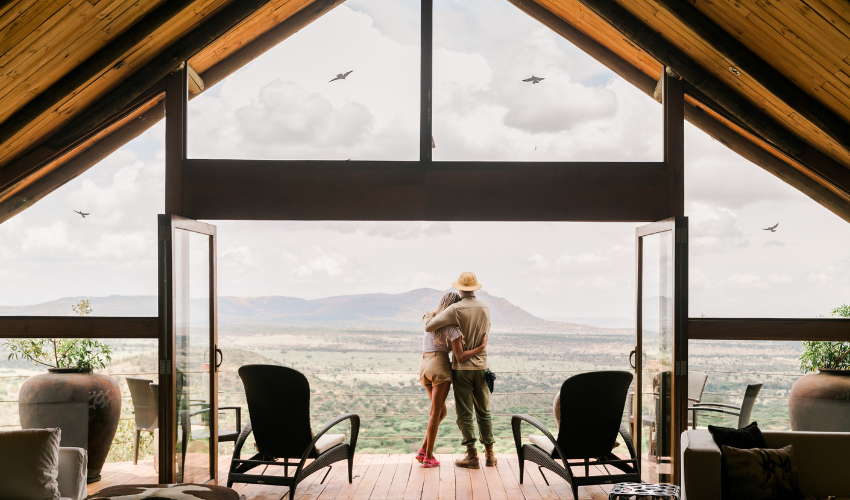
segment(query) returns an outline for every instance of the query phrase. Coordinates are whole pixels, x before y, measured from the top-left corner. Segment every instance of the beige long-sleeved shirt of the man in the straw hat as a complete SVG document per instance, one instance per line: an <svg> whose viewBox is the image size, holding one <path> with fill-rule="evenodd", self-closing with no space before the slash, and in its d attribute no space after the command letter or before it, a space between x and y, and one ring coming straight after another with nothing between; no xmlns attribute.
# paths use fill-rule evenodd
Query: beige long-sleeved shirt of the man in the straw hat
<svg viewBox="0 0 850 500"><path fill-rule="evenodd" d="M444 326L456 325L460 328L463 350L468 351L481 345L484 335L490 332L490 308L475 296L464 297L447 307L443 312L434 316L430 321L422 318L426 332L436 331ZM452 356L454 358L454 356ZM487 362L487 348L463 363L452 359L453 370L486 370L490 368Z"/></svg>

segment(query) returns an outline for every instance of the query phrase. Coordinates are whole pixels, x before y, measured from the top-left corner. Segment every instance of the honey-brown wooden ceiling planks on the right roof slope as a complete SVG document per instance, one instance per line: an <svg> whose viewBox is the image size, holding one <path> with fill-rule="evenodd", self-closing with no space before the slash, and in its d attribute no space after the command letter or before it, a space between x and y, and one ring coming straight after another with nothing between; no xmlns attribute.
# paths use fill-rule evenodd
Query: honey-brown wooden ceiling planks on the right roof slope
<svg viewBox="0 0 850 500"><path fill-rule="evenodd" d="M511 0L522 3L521 0ZM530 0L526 0L528 3ZM831 182L841 178L850 179L850 147L848 142L839 143L836 137L846 137L850 132L850 3L844 0L533 0L583 33L602 43L606 48L629 62L634 68L657 79L661 63L645 50L646 40L630 39L615 25L622 19L604 18L605 13L622 7L630 13L647 32L657 34L673 50L716 78L730 93L745 99L753 109L765 114L782 130L789 131L796 139L814 148L808 155L812 164L830 168L832 179L825 179L816 169L808 168L801 155L789 154L781 146L770 143L758 133L743 126L740 121L729 121L729 113L710 111L724 126L746 137L760 148L793 166L812 183L831 191L836 200L825 203L813 196L834 212L847 219L850 208L848 185ZM607 4L607 5L606 5ZM600 9L600 5L605 7ZM673 6L673 8L671 8ZM695 33L693 25L683 21L682 12L691 9L702 17L698 22L703 29L715 29L721 35L728 34L734 43L754 53L760 64L766 63L775 70L785 88L801 91L811 97L812 103L823 106L826 113L833 113L832 127L807 119L806 109L798 102L793 105L771 92L776 89L774 81L766 81L763 75L752 75L738 68L732 58L724 55L718 46ZM613 9L616 10L616 9ZM602 14L599 11L603 11ZM613 16L612 16L613 17ZM692 16L693 19L693 16ZM645 35L643 35L645 37ZM717 37L715 37L717 38ZM653 45L649 43L648 45ZM657 45L656 45L657 46ZM660 52L665 50L662 48ZM761 76L761 79L759 78ZM693 95L689 102L702 107ZM708 108L704 108L708 110ZM714 107L718 110L718 107ZM814 114L810 114L814 116ZM693 120L692 120L693 121ZM700 126L698 124L698 126ZM705 128L705 127L701 127ZM796 140L795 139L795 140ZM818 156L818 155L825 156ZM826 160L826 161L824 161ZM837 172L837 174L836 174ZM799 187L799 186L798 186ZM812 196L811 193L807 193Z"/></svg>

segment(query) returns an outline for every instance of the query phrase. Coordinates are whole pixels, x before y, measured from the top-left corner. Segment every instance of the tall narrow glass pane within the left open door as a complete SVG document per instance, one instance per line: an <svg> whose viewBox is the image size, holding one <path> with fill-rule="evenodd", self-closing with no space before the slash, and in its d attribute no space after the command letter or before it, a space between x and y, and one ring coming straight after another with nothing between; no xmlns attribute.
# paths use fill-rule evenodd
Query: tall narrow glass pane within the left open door
<svg viewBox="0 0 850 500"><path fill-rule="evenodd" d="M177 346L177 482L210 474L210 237L178 229L174 241Z"/></svg>

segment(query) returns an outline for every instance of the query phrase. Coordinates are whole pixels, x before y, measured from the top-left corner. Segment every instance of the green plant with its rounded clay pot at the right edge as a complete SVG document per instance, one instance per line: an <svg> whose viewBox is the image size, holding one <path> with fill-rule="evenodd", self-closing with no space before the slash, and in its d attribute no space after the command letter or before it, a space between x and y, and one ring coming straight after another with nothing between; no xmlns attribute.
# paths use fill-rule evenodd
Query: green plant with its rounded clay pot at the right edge
<svg viewBox="0 0 850 500"><path fill-rule="evenodd" d="M850 318L850 305L830 311ZM795 431L850 431L850 342L803 342L800 369L788 395L788 416Z"/></svg>

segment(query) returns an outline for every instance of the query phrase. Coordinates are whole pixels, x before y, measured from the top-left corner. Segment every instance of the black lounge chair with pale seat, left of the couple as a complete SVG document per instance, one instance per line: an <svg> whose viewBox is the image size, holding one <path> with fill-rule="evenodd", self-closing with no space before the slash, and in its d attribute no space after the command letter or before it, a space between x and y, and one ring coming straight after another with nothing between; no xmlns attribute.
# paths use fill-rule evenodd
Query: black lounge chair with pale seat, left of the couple
<svg viewBox="0 0 850 500"><path fill-rule="evenodd" d="M239 376L245 385L250 421L245 424L230 462L227 486L233 483L270 484L289 486L290 500L295 498L295 488L310 474L336 462L348 460L348 482L351 483L351 467L360 417L354 413L343 413L330 420L313 435L310 427L310 384L301 372L284 366L245 365L239 368ZM340 422L351 420L351 444L344 443L345 434L327 434ZM257 454L242 460L240 452L248 435L254 433ZM307 464L307 459L314 459ZM282 465L284 475L264 475L270 465ZM248 471L264 466L260 474ZM289 475L289 467L295 467L295 475ZM328 470L330 472L330 470ZM327 477L327 473L325 473ZM322 478L322 482L324 482Z"/></svg>

